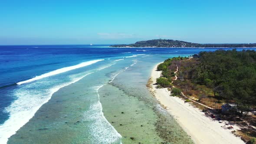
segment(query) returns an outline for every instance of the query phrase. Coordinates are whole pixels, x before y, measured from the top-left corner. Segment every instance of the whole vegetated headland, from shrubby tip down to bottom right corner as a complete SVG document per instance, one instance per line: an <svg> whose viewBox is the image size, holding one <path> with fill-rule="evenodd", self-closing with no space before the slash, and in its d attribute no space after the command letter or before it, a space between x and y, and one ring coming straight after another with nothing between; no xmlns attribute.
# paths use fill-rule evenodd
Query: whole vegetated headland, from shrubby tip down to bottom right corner
<svg viewBox="0 0 256 144"><path fill-rule="evenodd" d="M172 95L180 95L182 91L188 98L215 109L225 103L235 103L237 109L229 116L220 112L220 118L236 121L242 128L236 134L243 141L255 142L256 130L248 124L256 126L256 115L247 114L256 109L256 52L233 49L200 52L199 55L193 59L167 59L158 65L168 82L173 81L174 72L179 68L178 79L172 83L177 89L172 88ZM202 105L193 105L205 109Z"/></svg>

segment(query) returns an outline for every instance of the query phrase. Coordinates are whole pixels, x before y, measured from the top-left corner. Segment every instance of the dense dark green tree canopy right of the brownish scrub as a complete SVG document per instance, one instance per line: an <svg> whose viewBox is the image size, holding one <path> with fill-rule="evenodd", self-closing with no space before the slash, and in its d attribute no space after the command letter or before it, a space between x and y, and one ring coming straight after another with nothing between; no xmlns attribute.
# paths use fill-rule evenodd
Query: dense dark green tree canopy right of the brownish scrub
<svg viewBox="0 0 256 144"><path fill-rule="evenodd" d="M207 85L240 109L256 105L256 52L254 50L217 50L200 52L200 64L190 75L192 82ZM191 74L191 73L190 73Z"/></svg>

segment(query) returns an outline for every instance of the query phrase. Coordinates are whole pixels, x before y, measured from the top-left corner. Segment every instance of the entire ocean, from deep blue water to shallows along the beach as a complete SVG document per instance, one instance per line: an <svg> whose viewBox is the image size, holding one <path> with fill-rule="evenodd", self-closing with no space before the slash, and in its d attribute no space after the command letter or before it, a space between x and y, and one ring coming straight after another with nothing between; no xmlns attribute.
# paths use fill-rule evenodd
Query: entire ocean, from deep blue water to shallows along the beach
<svg viewBox="0 0 256 144"><path fill-rule="evenodd" d="M0 143L170 141L158 121L171 116L146 88L151 69L217 49L0 46ZM190 141L175 120L163 125L181 131L172 135L177 143Z"/></svg>

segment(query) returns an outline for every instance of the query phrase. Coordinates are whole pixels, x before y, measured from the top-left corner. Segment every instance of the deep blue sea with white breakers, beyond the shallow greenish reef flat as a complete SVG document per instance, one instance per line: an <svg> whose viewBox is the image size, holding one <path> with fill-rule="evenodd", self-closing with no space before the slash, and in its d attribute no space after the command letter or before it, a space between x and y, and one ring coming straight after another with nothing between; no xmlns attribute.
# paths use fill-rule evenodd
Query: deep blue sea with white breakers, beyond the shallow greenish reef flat
<svg viewBox="0 0 256 144"><path fill-rule="evenodd" d="M190 56L217 49L113 48L108 45L0 46L0 143L6 143L7 138L26 124L59 88L77 82L92 72L121 61L132 65L135 64L132 63L134 58L139 57L163 61L173 56ZM123 68L120 66L120 69Z"/></svg>

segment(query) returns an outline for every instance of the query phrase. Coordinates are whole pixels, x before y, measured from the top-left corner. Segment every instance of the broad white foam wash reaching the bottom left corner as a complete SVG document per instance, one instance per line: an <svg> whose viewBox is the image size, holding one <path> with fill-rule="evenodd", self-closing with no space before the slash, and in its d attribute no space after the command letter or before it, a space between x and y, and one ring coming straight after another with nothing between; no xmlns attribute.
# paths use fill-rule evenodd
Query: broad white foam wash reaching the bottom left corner
<svg viewBox="0 0 256 144"><path fill-rule="evenodd" d="M93 72L90 72L79 78L74 78L71 82L57 85L49 90L46 89L45 91L26 91L26 89L16 91L15 95L17 99L5 109L5 111L10 113L10 118L0 125L0 144L6 144L8 138L33 118L36 111L51 99L53 93L57 92L60 88L75 83L92 73Z"/></svg>

